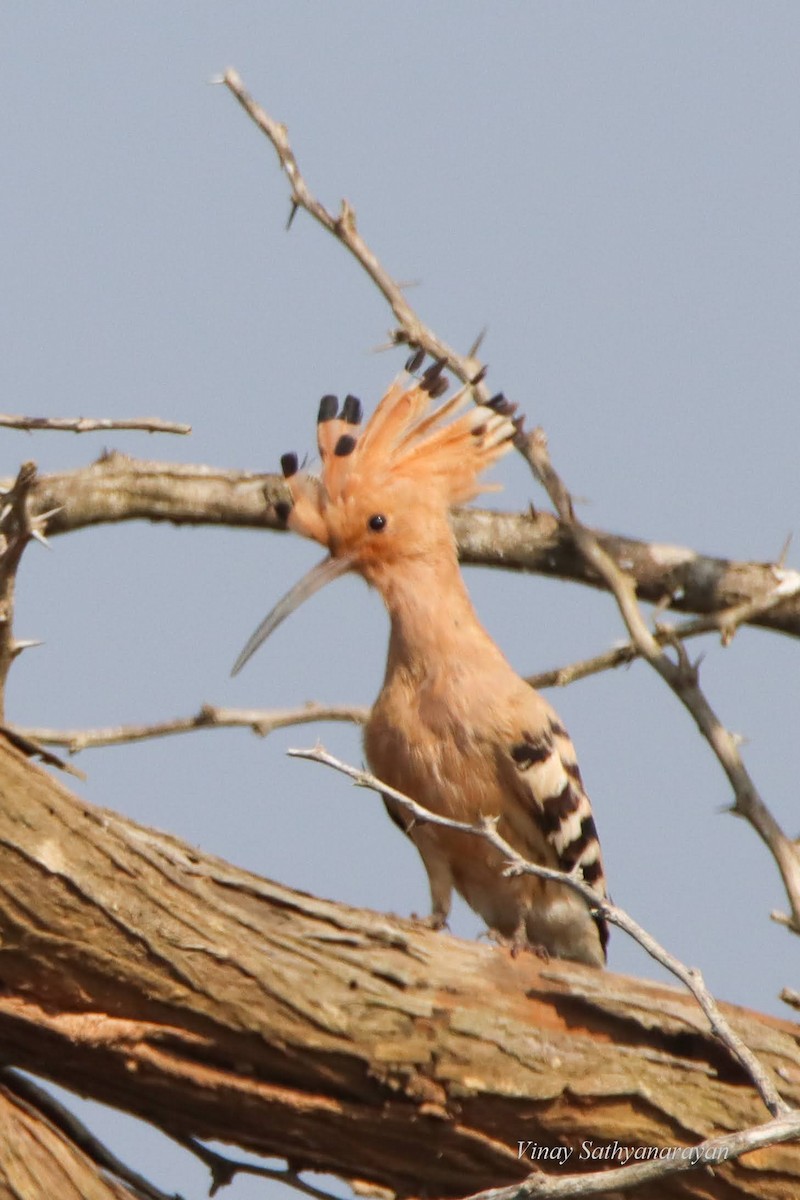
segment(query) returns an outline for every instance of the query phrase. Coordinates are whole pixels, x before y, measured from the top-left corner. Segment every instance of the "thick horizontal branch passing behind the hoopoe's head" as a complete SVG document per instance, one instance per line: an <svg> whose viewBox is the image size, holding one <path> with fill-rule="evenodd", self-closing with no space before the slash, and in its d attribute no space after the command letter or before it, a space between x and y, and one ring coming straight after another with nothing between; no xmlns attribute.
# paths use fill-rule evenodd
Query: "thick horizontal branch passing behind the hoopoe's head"
<svg viewBox="0 0 800 1200"><path fill-rule="evenodd" d="M12 487L13 480L0 480ZM49 514L48 536L118 521L166 521L284 532L276 504L285 502L276 474L146 462L104 455L90 467L44 475L32 486L30 511ZM462 563L531 571L606 589L576 550L570 529L549 512L457 509L453 529ZM597 532L601 546L624 563L640 600L678 612L712 614L754 606L750 624L800 637L800 572L770 563L738 563L680 546Z"/></svg>

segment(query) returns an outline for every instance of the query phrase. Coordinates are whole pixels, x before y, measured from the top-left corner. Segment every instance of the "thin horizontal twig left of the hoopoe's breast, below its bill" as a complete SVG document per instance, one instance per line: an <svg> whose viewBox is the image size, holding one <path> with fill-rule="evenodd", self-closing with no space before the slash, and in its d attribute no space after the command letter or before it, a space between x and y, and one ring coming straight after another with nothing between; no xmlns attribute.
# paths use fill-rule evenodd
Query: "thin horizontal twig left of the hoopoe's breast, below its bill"
<svg viewBox="0 0 800 1200"><path fill-rule="evenodd" d="M145 742L175 733L192 733L194 730L243 727L265 738L276 730L284 730L291 725L308 725L312 721L350 721L354 725L363 725L368 716L368 708L355 704L319 704L315 701L309 701L301 708L221 708L217 704L203 704L194 716L176 716L150 725L118 725L106 730L16 728L13 732L19 737L44 742L48 745L65 746L72 755L98 746Z"/></svg>

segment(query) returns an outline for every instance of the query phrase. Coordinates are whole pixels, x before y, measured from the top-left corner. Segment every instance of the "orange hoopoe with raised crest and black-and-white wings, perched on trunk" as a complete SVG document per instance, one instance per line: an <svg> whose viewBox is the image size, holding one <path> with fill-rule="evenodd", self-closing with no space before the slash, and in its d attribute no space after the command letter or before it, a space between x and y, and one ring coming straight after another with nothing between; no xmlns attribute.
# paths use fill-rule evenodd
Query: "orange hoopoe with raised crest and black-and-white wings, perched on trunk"
<svg viewBox="0 0 800 1200"><path fill-rule="evenodd" d="M497 818L525 858L576 870L606 896L572 743L481 625L449 520L452 505L491 490L479 476L511 449L513 408L498 396L459 412L469 398L463 389L431 410L446 390L440 371L434 364L420 382L401 376L363 427L359 400L348 396L339 412L337 398L324 396L319 478L299 469L296 455L283 455L287 526L329 556L259 625L234 674L303 600L357 571L391 618L386 674L365 728L373 773L432 812L469 823ZM530 875L506 878L503 856L483 839L414 824L397 802L384 803L422 857L433 928L446 923L456 888L515 948L604 964L606 923L571 888Z"/></svg>

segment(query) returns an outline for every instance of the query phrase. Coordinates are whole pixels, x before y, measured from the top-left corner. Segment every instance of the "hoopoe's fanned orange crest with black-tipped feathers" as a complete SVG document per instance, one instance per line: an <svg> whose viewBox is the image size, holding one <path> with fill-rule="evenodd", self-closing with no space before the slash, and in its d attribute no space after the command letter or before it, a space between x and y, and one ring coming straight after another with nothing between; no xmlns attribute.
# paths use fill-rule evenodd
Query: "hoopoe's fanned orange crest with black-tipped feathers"
<svg viewBox="0 0 800 1200"><path fill-rule="evenodd" d="M493 491L479 476L511 449L521 419L511 419L515 406L503 395L461 412L469 402L469 386L432 409L446 388L441 364L420 379L404 373L363 426L355 396L347 396L341 409L336 396L323 396L317 420L319 474L300 470L294 454L281 460L291 496L289 528L327 546L326 511L347 505L367 487L390 492L410 487L445 510Z"/></svg>

